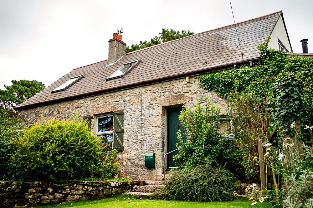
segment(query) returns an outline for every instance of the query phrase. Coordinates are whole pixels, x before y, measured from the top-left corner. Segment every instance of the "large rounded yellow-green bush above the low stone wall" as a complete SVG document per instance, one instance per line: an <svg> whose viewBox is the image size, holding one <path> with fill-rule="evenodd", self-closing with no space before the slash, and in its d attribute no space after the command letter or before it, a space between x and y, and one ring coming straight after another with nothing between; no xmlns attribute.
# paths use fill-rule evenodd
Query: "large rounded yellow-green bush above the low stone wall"
<svg viewBox="0 0 313 208"><path fill-rule="evenodd" d="M14 141L11 169L16 179L74 179L101 156L100 138L91 135L87 121L42 120Z"/></svg>

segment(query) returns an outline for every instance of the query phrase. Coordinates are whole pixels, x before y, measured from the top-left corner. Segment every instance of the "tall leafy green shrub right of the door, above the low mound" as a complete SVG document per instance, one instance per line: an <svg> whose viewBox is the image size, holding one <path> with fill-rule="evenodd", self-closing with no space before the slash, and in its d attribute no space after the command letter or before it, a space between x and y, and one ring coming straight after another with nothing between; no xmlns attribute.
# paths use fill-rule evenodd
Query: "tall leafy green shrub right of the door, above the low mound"
<svg viewBox="0 0 313 208"><path fill-rule="evenodd" d="M220 109L210 104L200 103L195 108L189 107L182 110L179 120L185 131L177 133L180 150L174 156L177 167L197 166L207 160L216 160L221 164L235 161L235 144L223 137L219 131ZM186 139L182 139L185 135Z"/></svg>

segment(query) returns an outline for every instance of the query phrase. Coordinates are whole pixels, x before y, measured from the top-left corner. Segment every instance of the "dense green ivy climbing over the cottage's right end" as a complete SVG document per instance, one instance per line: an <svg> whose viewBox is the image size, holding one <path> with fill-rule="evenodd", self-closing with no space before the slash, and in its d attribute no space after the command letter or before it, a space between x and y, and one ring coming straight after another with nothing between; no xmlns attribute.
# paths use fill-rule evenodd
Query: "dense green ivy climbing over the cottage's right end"
<svg viewBox="0 0 313 208"><path fill-rule="evenodd" d="M198 80L204 89L227 99L232 99L234 93L251 93L264 99L260 104L272 108L272 126L291 133L286 120L305 121L312 116L313 58L290 58L283 51L267 49L268 43L258 46L261 56L257 65L200 75Z"/></svg>

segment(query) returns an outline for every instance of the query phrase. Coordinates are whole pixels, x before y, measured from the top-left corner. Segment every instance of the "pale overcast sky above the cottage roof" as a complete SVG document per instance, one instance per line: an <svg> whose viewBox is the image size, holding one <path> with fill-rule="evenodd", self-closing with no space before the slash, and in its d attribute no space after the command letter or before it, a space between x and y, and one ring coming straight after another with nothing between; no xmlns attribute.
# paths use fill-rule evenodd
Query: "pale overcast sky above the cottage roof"
<svg viewBox="0 0 313 208"><path fill-rule="evenodd" d="M313 53L312 0L232 0L235 21L283 11L295 52ZM108 40L123 27L128 46L162 28L195 33L233 24L229 0L0 0L0 88L11 80L46 86L70 70L108 58Z"/></svg>

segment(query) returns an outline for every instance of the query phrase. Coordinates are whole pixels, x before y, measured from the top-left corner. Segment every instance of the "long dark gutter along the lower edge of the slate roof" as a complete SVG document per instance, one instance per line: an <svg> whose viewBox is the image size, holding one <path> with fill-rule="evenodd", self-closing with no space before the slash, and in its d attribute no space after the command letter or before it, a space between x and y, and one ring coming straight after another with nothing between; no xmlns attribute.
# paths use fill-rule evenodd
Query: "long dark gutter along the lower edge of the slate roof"
<svg viewBox="0 0 313 208"><path fill-rule="evenodd" d="M259 59L260 59L259 57L258 58L254 58L254 59L248 59L248 60L244 60L244 62L255 61L255 60L259 60ZM234 65L234 64L241 64L241 63L242 63L242 61L237 61L237 62L233 62L233 63L229 63L229 64L222 64L222 65L208 67L208 68L204 68L204 69L192 70L192 71L189 71L189 72L184 72L184 73L175 74L175 75L169 75L169 76L156 78L156 79L152 79L152 80L140 81L140 82L135 82L135 83L131 83L131 84L126 84L126 85L120 85L120 86L116 86L116 87L106 88L106 89L99 89L99 90L91 91L91 92L88 92L88 93L76 94L76 95L72 95L72 96L67 96L65 98L51 99L51 100L46 100L46 101L43 101L43 102L38 102L38 103L35 103L35 104L27 104L27 105L23 105L23 106L16 106L14 109L15 110L31 109L31 108L35 108L35 107L38 107L38 106L43 106L43 105L47 105L47 104L53 104L53 103L56 103L56 101L64 102L64 101L72 100L74 98L81 98L81 97L95 95L95 94L102 94L102 93L108 92L108 91L113 90L113 89L130 88L130 87L134 87L136 85L143 85L143 84L154 83L156 81L161 82L161 81L167 80L167 79L181 78L182 76L185 76L185 75L195 75L197 73L199 74L199 72L204 72L204 71L207 71L207 70L223 68L223 67L226 67L226 66L230 66L230 65ZM223 70L223 69L221 69L221 70Z"/></svg>

